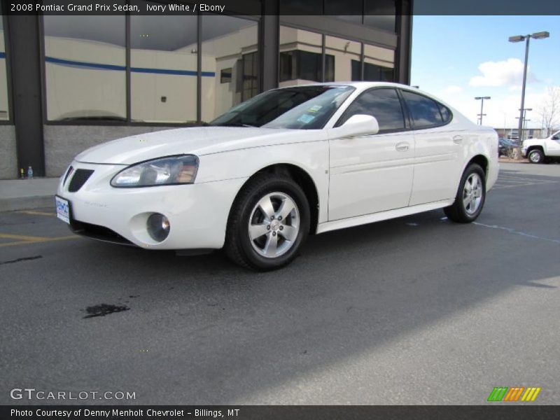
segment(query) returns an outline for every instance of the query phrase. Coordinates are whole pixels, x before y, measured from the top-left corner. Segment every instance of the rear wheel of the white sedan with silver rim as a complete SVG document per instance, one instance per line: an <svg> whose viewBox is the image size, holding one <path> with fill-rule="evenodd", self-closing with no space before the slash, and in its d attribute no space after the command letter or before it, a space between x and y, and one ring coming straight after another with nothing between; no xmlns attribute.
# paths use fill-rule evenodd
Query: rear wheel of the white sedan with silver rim
<svg viewBox="0 0 560 420"><path fill-rule="evenodd" d="M455 196L455 202L443 209L449 220L471 223L477 219L486 201L486 176L476 163L470 164L463 176Z"/></svg>

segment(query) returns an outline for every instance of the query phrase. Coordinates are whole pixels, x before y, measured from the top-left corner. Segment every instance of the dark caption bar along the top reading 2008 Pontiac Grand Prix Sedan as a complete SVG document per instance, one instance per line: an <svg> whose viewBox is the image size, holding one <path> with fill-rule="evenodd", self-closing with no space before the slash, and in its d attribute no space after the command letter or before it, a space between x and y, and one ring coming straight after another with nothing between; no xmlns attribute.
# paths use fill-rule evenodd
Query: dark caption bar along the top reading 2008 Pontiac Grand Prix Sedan
<svg viewBox="0 0 560 420"><path fill-rule="evenodd" d="M193 13L223 13L226 15L265 15L272 13L266 6L270 0L151 0L150 5L159 3L165 8L148 10L143 0L0 0L4 3L3 13L8 15L188 15ZM282 0L279 2L280 15L362 15L363 10L356 9L356 3L341 0L336 8L309 8L304 0ZM377 0L365 0L377 1ZM407 3L402 11L400 3ZM321 3L321 1L319 1ZM74 10L69 10L69 5ZM116 10L115 5L127 6ZM184 6L169 10L169 5ZM316 4L314 2L313 4ZM373 3L372 3L373 4ZM408 5L412 4L412 7ZM19 5L19 6L18 6ZM556 0L381 0L375 7L376 15L394 15L395 6L398 15L560 15L560 1ZM31 7L29 7L31 6ZM87 6L86 10L77 10L76 6ZM102 7L105 6L105 7ZM134 6L130 8L130 6ZM178 10L177 10L178 9ZM335 12L332 10L336 10Z"/></svg>

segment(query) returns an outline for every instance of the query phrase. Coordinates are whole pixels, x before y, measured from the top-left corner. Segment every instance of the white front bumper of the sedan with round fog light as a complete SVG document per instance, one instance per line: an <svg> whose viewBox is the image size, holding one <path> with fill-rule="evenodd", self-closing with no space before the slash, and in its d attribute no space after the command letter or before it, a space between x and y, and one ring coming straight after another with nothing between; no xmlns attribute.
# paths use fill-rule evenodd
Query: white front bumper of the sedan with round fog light
<svg viewBox="0 0 560 420"><path fill-rule="evenodd" d="M69 191L73 174L66 180L64 174L59 181L57 195L71 203L71 228L76 233L87 231L94 239L150 249L221 248L231 205L246 181L113 188L109 182L125 166L82 162L72 166L94 172L75 193ZM169 219L169 236L164 241L148 235L146 221L153 213ZM92 232L99 235L89 235Z"/></svg>

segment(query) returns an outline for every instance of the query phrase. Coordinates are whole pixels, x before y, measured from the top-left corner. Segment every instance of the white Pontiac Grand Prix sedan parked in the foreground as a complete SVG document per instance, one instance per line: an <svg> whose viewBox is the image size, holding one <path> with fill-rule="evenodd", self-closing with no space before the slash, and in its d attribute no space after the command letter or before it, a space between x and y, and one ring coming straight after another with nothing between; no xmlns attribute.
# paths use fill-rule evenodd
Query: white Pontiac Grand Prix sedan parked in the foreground
<svg viewBox="0 0 560 420"><path fill-rule="evenodd" d="M61 177L57 214L87 237L146 249L224 248L276 269L307 235L442 208L474 221L498 136L395 83L259 94L202 127L110 141Z"/></svg>

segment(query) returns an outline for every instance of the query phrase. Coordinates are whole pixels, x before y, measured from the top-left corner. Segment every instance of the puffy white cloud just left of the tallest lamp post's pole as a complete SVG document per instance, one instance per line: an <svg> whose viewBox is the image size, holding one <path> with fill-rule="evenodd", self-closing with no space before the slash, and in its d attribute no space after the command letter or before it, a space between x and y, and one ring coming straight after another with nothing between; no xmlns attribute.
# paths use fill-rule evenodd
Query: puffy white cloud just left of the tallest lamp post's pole
<svg viewBox="0 0 560 420"><path fill-rule="evenodd" d="M508 58L499 62L484 62L478 66L478 69L482 76L470 78L469 85L471 86L514 86L519 85L523 78L523 62L517 58ZM533 81L535 78L528 73L527 80Z"/></svg>

